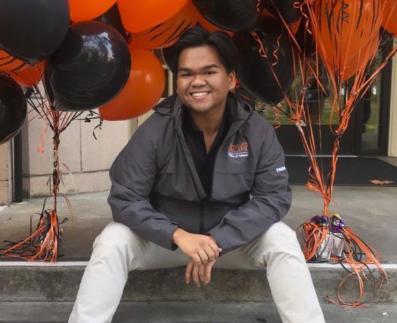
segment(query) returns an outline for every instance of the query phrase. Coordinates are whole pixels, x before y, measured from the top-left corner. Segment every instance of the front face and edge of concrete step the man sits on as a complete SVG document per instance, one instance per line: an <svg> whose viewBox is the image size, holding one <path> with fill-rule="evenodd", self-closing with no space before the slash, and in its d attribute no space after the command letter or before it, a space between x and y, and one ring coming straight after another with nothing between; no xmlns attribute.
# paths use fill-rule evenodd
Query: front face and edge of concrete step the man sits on
<svg viewBox="0 0 397 323"><path fill-rule="evenodd" d="M0 302L73 302L86 262L27 263L0 262ZM371 267L373 268L373 267ZM385 265L389 281L376 302L397 303L397 265ZM340 265L309 264L320 300L336 298L337 287L348 272ZM282 279L282 277L280 277ZM374 296L376 274L365 286L367 300ZM350 279L341 295L357 299L356 279ZM213 270L212 281L195 287L184 283L184 268L130 272L123 301L260 301L271 302L272 295L263 272L258 270ZM396 320L397 322L397 320Z"/></svg>

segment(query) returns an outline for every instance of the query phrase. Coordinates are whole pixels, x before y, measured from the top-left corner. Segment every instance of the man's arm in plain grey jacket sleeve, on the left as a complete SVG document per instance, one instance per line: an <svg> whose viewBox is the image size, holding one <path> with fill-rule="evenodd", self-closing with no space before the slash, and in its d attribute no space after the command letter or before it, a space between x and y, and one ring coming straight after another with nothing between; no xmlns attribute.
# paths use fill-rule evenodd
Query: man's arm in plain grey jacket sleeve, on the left
<svg viewBox="0 0 397 323"><path fill-rule="evenodd" d="M156 172L156 147L144 140L138 129L110 168L112 188L108 203L116 222L125 224L146 240L175 250L172 235L178 223L158 213L149 203Z"/></svg>

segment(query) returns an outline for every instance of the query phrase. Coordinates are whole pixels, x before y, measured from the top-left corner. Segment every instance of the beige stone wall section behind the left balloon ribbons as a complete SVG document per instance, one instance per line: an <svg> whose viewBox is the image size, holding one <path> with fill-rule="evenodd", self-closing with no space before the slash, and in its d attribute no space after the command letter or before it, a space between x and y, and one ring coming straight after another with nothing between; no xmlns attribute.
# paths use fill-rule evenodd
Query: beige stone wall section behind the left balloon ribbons
<svg viewBox="0 0 397 323"><path fill-rule="evenodd" d="M32 112L29 116L36 114ZM31 117L32 118L32 117ZM59 159L62 172L60 193L97 192L110 189L108 170L119 151L136 129L136 120L89 123L74 120L60 135ZM44 120L35 118L22 131L23 190L25 197L51 195L53 172L53 133ZM38 152L43 138L43 152Z"/></svg>

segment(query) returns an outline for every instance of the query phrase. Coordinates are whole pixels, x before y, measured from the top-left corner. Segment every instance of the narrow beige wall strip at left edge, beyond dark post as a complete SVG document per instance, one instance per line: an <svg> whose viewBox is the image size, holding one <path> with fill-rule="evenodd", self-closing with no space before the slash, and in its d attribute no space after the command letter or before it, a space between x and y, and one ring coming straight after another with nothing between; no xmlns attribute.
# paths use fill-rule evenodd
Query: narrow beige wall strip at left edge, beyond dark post
<svg viewBox="0 0 397 323"><path fill-rule="evenodd" d="M0 205L12 201L10 142L0 145Z"/></svg>

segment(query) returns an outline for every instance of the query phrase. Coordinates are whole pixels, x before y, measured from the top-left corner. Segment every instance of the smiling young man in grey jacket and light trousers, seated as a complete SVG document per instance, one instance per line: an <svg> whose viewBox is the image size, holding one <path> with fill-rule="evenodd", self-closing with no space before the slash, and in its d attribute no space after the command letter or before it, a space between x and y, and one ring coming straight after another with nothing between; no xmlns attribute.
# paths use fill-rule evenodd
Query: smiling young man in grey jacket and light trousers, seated
<svg viewBox="0 0 397 323"><path fill-rule="evenodd" d="M157 107L110 169L115 222L97 237L69 322L110 322L130 270L266 270L282 322L324 318L294 231L284 153L272 125L236 99L233 40L186 31L171 48L177 94ZM182 279L182 277L181 277Z"/></svg>

